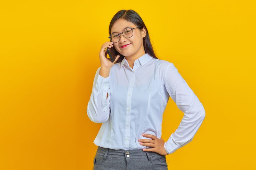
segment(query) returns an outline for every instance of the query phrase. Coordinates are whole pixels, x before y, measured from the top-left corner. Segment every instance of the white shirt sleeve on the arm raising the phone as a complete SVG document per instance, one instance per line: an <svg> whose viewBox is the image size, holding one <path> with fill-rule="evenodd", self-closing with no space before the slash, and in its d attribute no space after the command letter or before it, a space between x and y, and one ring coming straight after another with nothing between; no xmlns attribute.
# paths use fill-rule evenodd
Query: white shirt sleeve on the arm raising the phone
<svg viewBox="0 0 256 170"><path fill-rule="evenodd" d="M106 122L110 114L110 87L109 76L104 78L100 76L100 67L96 71L92 94L87 105L87 115L92 122ZM107 99L108 93L108 99Z"/></svg>

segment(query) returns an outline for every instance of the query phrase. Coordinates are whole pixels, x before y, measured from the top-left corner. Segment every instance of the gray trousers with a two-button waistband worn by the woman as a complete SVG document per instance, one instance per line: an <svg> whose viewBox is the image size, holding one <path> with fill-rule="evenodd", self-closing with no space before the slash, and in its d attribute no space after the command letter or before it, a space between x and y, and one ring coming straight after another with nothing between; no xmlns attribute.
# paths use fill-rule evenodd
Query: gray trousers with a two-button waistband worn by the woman
<svg viewBox="0 0 256 170"><path fill-rule="evenodd" d="M115 150L98 146L93 170L166 170L165 155L142 149Z"/></svg>

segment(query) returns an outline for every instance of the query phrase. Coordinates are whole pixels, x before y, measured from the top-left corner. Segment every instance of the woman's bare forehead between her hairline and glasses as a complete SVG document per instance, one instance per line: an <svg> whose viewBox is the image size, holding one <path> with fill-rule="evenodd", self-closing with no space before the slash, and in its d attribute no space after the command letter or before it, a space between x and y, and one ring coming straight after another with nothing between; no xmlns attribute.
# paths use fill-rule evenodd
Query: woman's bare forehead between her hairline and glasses
<svg viewBox="0 0 256 170"><path fill-rule="evenodd" d="M120 19L117 19L116 22L113 24L111 30L110 30L110 33L113 34L113 33L121 33L122 31L124 31L124 29L126 27L131 27L131 28L134 28L134 27L137 27L135 24L133 24L132 22L129 22L127 20L124 20L122 18Z"/></svg>

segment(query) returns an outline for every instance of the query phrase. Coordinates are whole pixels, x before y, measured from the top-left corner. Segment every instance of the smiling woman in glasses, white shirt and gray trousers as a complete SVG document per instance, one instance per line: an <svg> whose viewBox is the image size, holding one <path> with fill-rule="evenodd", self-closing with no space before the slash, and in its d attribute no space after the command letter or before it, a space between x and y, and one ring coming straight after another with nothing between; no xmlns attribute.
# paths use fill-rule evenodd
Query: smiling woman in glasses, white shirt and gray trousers
<svg viewBox="0 0 256 170"><path fill-rule="evenodd" d="M98 146L93 169L167 169L165 156L192 141L204 107L174 64L156 57L138 13L118 11L109 35L100 49L101 66L87 107L90 120L102 123L93 142ZM114 63L106 48L118 52ZM165 142L161 125L169 97L184 117Z"/></svg>

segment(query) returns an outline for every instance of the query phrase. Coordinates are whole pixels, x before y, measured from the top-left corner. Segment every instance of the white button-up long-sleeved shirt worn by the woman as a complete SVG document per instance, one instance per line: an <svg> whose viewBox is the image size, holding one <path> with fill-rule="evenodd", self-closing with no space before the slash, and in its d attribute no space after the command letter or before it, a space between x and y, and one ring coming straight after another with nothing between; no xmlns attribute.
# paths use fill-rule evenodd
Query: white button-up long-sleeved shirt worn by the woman
<svg viewBox="0 0 256 170"><path fill-rule="evenodd" d="M111 67L107 78L100 76L99 71L100 67L87 106L89 119L102 123L94 144L110 149L149 148L140 145L138 139L150 139L143 133L161 138L169 97L184 117L164 143L164 149L170 154L192 141L205 110L173 63L146 53L134 61L133 68L124 57Z"/></svg>

